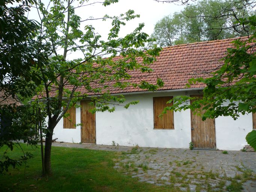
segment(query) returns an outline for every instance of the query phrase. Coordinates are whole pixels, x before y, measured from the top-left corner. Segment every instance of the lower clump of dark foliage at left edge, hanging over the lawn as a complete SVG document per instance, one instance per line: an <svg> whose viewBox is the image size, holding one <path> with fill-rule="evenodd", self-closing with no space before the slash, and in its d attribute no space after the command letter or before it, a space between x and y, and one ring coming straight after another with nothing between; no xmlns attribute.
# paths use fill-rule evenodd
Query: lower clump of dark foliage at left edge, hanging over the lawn
<svg viewBox="0 0 256 192"><path fill-rule="evenodd" d="M17 147L23 151L19 144L20 140L27 142L28 145L37 144L38 141L33 138L36 135L37 117L30 105L0 105L0 117L0 148L7 146L12 151ZM23 156L13 159L6 151L0 160L0 173L8 171L9 166L15 168L33 157L31 153L23 151Z"/></svg>

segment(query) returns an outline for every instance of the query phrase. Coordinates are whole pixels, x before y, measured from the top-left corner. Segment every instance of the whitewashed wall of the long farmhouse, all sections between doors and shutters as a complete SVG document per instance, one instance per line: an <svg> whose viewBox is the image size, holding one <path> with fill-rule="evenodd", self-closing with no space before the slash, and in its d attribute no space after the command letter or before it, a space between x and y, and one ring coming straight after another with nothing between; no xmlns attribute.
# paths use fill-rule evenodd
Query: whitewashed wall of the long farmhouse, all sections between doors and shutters
<svg viewBox="0 0 256 192"><path fill-rule="evenodd" d="M125 96L126 101L137 101L128 109L116 107L113 113L96 113L96 143L141 147L188 148L191 141L190 110L174 112L175 129L154 129L153 97L184 95L185 92L147 93ZM198 92L188 92L188 95ZM80 102L77 102L80 105ZM76 123L80 123L80 108L76 109ZM252 130L252 115L215 119L216 145L220 150L240 150L247 144L245 136ZM54 128L53 138L64 142L81 142L81 128L63 129L63 118Z"/></svg>

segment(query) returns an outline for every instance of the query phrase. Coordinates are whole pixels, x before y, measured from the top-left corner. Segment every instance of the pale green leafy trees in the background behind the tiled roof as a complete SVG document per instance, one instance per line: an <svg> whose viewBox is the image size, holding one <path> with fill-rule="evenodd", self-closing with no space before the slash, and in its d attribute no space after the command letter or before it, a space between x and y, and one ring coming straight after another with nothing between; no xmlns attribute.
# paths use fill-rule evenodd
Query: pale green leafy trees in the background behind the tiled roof
<svg viewBox="0 0 256 192"><path fill-rule="evenodd" d="M196 1L158 21L152 37L159 45L170 46L245 36L250 30L238 22L251 12L251 4L244 1Z"/></svg>

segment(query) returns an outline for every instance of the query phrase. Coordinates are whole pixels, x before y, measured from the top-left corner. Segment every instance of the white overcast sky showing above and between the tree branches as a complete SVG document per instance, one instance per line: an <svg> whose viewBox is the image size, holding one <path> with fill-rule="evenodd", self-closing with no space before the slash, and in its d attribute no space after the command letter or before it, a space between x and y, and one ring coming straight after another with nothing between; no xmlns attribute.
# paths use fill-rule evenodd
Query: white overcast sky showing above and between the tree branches
<svg viewBox="0 0 256 192"><path fill-rule="evenodd" d="M90 0L84 4L86 5L95 1ZM45 5L48 5L48 0L42 0L42 2L44 2ZM80 7L75 10L75 14L79 15L81 20L85 20L90 17L102 18L106 14L109 16L119 16L121 13L125 13L129 9L132 9L135 12L134 14L140 15L140 18L125 21L126 25L121 26L119 37L124 37L126 34L131 33L136 27L138 27L139 23L145 23L145 27L142 31L150 36L157 21L166 15L181 11L182 7L183 6L175 5L173 3L158 3L154 0L119 0L118 3L114 3L106 7L100 3ZM32 11L29 13L29 18L35 20L38 19L38 14L35 9L32 9ZM83 30L84 26L89 24L91 24L95 28L95 31L102 36L101 40L107 40L108 33L111 28L111 21L86 21L81 24L80 29ZM82 57L82 54L80 55L78 52L73 52L68 55L69 59L78 57Z"/></svg>

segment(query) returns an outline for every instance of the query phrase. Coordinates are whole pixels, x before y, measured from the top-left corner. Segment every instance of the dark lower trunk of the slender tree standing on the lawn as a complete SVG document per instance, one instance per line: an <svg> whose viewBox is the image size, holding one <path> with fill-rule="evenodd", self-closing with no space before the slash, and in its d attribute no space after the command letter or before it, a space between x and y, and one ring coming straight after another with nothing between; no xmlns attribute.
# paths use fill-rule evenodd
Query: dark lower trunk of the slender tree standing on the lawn
<svg viewBox="0 0 256 192"><path fill-rule="evenodd" d="M51 142L53 139L53 131L49 131L46 134L45 138L45 147L44 147L44 168L45 175L51 175Z"/></svg>

